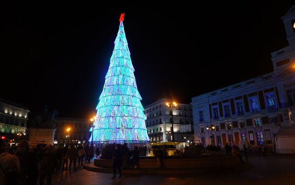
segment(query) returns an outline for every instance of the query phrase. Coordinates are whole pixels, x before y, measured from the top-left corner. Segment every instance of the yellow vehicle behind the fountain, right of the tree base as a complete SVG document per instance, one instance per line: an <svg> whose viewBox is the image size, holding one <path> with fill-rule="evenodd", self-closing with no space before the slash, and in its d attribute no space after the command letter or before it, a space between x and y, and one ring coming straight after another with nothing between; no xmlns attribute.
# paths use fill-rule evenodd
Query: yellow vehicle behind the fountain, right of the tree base
<svg viewBox="0 0 295 185"><path fill-rule="evenodd" d="M182 143L180 142L149 143L147 156L155 156L153 151L158 148L164 150L164 153L166 152L167 156L174 156L174 152L177 150L179 146L181 146L181 144Z"/></svg>

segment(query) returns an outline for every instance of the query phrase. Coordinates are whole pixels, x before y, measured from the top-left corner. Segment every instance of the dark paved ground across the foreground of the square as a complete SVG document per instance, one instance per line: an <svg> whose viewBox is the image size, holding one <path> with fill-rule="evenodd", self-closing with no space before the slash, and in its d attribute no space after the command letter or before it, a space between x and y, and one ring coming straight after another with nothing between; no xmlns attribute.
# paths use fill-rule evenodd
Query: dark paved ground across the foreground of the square
<svg viewBox="0 0 295 185"><path fill-rule="evenodd" d="M251 157L253 168L244 172L221 171L212 174L134 175L123 174L122 179L111 179L112 174L79 169L61 171L53 176L52 185L294 185L295 157Z"/></svg>

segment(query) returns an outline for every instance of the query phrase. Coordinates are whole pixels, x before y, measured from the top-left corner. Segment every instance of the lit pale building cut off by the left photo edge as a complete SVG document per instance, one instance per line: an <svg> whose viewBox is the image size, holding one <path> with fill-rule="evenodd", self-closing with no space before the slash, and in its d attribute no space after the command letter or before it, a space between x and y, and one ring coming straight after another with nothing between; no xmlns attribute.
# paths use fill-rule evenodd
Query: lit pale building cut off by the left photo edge
<svg viewBox="0 0 295 185"><path fill-rule="evenodd" d="M0 139L18 139L26 134L29 108L0 99Z"/></svg>

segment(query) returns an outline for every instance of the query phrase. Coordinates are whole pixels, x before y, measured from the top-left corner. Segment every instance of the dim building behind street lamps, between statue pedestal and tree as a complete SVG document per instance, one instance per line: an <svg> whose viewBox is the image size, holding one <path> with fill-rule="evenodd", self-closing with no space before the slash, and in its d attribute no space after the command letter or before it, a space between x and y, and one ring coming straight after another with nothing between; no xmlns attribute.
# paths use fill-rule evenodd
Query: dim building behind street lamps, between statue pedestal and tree
<svg viewBox="0 0 295 185"><path fill-rule="evenodd" d="M56 129L54 144L74 144L80 145L87 143L92 123L87 119L79 118L55 118ZM67 131L67 129L70 129Z"/></svg>

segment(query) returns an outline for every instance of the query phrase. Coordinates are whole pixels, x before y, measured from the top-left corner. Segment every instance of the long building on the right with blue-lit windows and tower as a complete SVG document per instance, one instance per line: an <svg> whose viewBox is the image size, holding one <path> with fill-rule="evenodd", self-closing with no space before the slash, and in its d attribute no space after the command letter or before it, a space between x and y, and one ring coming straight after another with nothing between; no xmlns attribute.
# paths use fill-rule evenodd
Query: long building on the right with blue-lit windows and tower
<svg viewBox="0 0 295 185"><path fill-rule="evenodd" d="M264 143L275 149L280 127L294 124L295 7L282 20L289 46L271 53L272 73L192 98L196 142L223 147L247 141L253 149Z"/></svg>

